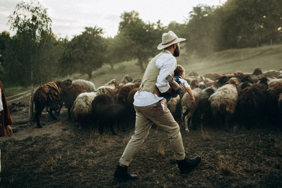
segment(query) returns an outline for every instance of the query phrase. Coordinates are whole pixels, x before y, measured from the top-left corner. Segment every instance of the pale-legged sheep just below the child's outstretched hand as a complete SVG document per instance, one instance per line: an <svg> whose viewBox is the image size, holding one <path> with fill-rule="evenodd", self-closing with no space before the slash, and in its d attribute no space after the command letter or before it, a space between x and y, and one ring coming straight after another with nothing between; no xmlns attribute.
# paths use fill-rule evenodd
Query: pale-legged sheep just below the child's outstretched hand
<svg viewBox="0 0 282 188"><path fill-rule="evenodd" d="M196 88L192 90L195 101L191 102L191 97L188 93L185 93L184 96L180 100L180 109L181 109L181 121L182 126L185 125L185 130L189 133L188 129L188 121L189 125L192 124L192 116L196 110L197 103L200 99L201 89Z"/></svg>

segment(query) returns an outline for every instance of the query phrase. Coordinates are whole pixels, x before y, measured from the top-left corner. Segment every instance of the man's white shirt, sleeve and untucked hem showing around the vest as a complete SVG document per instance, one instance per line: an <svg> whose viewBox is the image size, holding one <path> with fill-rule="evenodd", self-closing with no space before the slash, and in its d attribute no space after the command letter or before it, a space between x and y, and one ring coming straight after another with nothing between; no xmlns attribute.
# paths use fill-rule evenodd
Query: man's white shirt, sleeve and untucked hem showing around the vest
<svg viewBox="0 0 282 188"><path fill-rule="evenodd" d="M169 52L169 54L162 54L155 61L156 66L160 69L156 86L161 93L169 90L170 85L165 80L165 77L172 75L177 66L175 57L170 53L169 50L165 51ZM158 97L156 94L149 91L141 91L140 93L137 91L134 95L133 104L137 107L144 107L154 104L163 98L164 97Z"/></svg>

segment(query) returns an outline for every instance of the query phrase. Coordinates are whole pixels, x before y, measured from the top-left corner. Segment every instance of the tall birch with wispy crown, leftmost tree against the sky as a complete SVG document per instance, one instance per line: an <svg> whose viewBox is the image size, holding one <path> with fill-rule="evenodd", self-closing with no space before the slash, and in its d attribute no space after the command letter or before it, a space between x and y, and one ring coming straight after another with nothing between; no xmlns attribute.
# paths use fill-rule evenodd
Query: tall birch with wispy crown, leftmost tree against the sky
<svg viewBox="0 0 282 188"><path fill-rule="evenodd" d="M36 82L34 73L38 74L41 69L39 59L46 52L44 46L52 38L51 23L52 21L47 15L47 9L43 8L39 2L36 3L34 1L30 1L30 3L24 1L18 3L14 12L9 16L8 24L11 25L12 30L17 31L14 41L10 46L11 51L9 54L10 63L13 64L13 62L16 62L17 64L10 65L10 67L21 70L22 75L15 71L13 72L13 76L17 76L15 79L24 76L24 80L27 81L23 81L21 84L28 85L31 83L32 94L33 85ZM16 49L18 51L13 51ZM40 75L40 77L45 75L46 73ZM26 79L28 77L30 80Z"/></svg>

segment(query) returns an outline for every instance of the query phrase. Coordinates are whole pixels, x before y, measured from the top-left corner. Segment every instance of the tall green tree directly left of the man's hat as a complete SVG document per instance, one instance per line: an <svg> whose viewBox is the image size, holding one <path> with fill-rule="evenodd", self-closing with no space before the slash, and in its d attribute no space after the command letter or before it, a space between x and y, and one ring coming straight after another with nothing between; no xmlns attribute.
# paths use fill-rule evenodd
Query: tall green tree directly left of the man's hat
<svg viewBox="0 0 282 188"><path fill-rule="evenodd" d="M136 11L124 12L119 23L118 37L123 39L121 48L124 56L137 59L142 72L145 71L143 64L149 57L157 53L157 45L163 32L160 21L157 23L144 23Z"/></svg>

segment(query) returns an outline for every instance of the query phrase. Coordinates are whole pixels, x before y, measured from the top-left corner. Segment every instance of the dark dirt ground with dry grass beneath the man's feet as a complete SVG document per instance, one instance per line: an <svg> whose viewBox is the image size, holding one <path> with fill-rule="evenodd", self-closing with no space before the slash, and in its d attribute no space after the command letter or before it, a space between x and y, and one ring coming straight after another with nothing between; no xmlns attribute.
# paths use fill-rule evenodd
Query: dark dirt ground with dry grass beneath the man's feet
<svg viewBox="0 0 282 188"><path fill-rule="evenodd" d="M25 107L12 117L28 115ZM282 187L282 137L277 128L204 126L181 130L186 155L201 155L201 164L180 175L165 133L152 127L129 170L139 179L128 183L112 180L123 150L133 134L95 128L78 130L62 109L54 121L46 113L43 128L12 125L12 138L0 138L1 187Z"/></svg>

